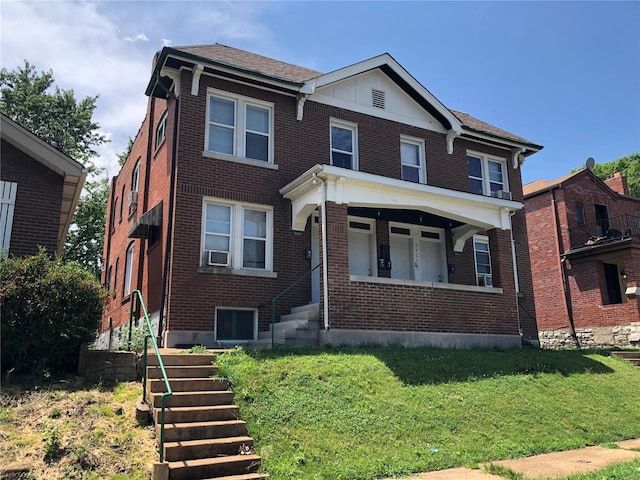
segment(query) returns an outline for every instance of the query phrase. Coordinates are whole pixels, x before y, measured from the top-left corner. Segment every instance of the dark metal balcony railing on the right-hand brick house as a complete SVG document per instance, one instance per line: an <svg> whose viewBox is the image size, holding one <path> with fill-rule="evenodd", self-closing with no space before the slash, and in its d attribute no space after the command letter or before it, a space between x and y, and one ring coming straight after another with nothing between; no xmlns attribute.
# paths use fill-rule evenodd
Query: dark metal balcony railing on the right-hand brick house
<svg viewBox="0 0 640 480"><path fill-rule="evenodd" d="M571 248L631 237L640 238L640 218L636 215L624 214L569 229Z"/></svg>

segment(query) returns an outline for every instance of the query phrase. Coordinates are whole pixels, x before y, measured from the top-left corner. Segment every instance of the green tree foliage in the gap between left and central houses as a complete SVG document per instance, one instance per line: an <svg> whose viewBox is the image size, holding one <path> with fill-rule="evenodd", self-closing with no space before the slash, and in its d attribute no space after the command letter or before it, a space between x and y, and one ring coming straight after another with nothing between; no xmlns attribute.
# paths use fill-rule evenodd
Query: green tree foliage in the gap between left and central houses
<svg viewBox="0 0 640 480"><path fill-rule="evenodd" d="M109 184L106 179L87 182L67 234L62 258L76 261L100 278Z"/></svg>

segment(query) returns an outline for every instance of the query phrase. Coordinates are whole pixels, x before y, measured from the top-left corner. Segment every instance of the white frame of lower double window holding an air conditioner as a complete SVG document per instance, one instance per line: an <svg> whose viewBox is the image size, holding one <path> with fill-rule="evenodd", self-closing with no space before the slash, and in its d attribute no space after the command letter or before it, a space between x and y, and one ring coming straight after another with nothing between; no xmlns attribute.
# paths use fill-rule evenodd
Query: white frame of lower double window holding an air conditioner
<svg viewBox="0 0 640 480"><path fill-rule="evenodd" d="M203 197L202 198L202 218L201 218L201 237L200 237L200 260L198 262L202 270L211 273L223 273L222 271L216 271L215 268L208 265L205 258L205 244L207 236L207 205L218 205L228 207L229 212L229 234L225 236L229 237L229 265L222 267L224 273L234 273L238 270L253 271L253 272L272 272L273 271L273 207L270 205L259 205L254 203L233 202L225 199L215 197ZM251 268L244 267L244 212L246 210L253 210L266 213L266 238L265 242L265 267L264 268ZM221 234L223 235L223 234Z"/></svg>

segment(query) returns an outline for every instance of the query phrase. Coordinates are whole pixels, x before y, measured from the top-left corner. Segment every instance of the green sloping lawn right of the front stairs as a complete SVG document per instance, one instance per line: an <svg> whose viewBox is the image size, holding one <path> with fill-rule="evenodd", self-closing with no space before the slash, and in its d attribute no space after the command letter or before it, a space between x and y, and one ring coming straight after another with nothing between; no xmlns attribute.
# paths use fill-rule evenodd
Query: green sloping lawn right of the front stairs
<svg viewBox="0 0 640 480"><path fill-rule="evenodd" d="M640 369L603 354L236 349L218 364L272 480L369 480L640 437Z"/></svg>

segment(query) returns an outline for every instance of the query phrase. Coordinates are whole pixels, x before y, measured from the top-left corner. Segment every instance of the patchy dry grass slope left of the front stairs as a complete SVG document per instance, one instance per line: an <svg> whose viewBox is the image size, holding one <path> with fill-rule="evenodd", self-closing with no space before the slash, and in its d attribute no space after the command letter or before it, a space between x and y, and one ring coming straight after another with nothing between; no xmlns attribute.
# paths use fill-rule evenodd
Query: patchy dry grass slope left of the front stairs
<svg viewBox="0 0 640 480"><path fill-rule="evenodd" d="M139 427L139 383L3 385L2 468L29 466L40 479L142 480L157 461L152 427Z"/></svg>

